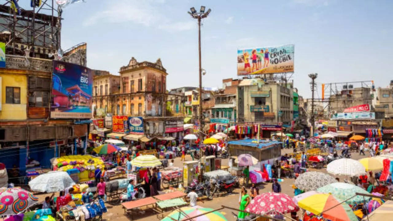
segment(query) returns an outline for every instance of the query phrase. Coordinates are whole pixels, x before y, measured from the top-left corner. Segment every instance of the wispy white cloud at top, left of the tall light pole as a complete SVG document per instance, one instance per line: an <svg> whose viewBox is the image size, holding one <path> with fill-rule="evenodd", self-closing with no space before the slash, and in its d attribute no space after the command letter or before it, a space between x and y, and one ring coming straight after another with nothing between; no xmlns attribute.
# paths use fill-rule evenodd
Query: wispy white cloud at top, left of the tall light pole
<svg viewBox="0 0 393 221"><path fill-rule="evenodd" d="M195 27L191 21L174 22L161 11L165 0L118 0L103 11L97 11L84 20L84 26L98 23L132 22L147 27L156 27L168 31L184 31Z"/></svg>

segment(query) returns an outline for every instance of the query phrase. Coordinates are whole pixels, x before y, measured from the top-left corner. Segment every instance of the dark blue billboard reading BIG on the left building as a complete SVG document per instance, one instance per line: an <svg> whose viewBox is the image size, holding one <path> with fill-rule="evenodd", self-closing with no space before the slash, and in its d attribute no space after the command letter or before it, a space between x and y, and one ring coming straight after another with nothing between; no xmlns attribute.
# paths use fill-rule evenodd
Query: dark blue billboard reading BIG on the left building
<svg viewBox="0 0 393 221"><path fill-rule="evenodd" d="M51 118L92 118L92 90L89 68L53 61Z"/></svg>

